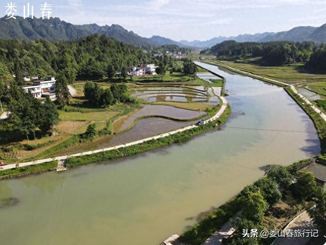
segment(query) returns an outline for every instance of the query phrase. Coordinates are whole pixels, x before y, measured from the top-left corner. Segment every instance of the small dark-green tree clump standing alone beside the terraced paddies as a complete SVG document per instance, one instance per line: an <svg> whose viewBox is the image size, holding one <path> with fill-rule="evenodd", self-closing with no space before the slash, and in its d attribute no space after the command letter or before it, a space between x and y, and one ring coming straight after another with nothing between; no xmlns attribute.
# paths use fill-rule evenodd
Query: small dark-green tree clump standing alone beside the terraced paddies
<svg viewBox="0 0 326 245"><path fill-rule="evenodd" d="M84 85L86 99L94 106L110 106L117 102L133 103L134 99L126 94L127 86L112 84L110 88L103 89L98 83L87 82Z"/></svg>

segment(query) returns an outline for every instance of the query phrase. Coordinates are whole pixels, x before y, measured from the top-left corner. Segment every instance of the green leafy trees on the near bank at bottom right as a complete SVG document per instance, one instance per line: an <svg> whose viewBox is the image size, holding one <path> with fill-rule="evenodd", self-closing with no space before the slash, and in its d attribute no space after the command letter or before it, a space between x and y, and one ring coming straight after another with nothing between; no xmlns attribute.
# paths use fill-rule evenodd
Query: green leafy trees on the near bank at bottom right
<svg viewBox="0 0 326 245"><path fill-rule="evenodd" d="M231 237L224 240L223 244L262 244L261 237L243 237L242 231L263 230L262 222L265 213L273 210L282 199L280 188L298 190L302 201L315 197L308 212L319 231L326 232L326 191L316 187L312 173L298 172L295 184L293 184L293 176L284 166L269 165L265 169L265 175L266 178L245 187L240 192L238 200L241 215L231 221L231 226L236 230Z"/></svg>

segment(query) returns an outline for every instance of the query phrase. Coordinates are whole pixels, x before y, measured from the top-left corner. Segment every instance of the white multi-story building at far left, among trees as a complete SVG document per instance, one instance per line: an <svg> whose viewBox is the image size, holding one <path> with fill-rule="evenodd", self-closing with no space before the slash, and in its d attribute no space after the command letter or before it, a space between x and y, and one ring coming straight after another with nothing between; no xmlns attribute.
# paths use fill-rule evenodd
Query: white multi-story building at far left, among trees
<svg viewBox="0 0 326 245"><path fill-rule="evenodd" d="M25 91L30 91L34 97L40 98L42 95L51 96L56 92L56 79L49 77L48 80L33 81L33 85L23 86Z"/></svg>

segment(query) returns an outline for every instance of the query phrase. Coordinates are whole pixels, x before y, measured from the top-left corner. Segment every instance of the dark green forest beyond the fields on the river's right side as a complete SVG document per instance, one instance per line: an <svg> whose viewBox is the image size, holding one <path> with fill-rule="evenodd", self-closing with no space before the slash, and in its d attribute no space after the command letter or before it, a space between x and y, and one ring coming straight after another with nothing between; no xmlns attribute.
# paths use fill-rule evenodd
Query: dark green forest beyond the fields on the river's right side
<svg viewBox="0 0 326 245"><path fill-rule="evenodd" d="M284 65L295 62L306 62L307 67L326 72L325 45L314 42L236 42L224 41L203 50L201 54L210 53L218 57L261 57L261 65Z"/></svg>

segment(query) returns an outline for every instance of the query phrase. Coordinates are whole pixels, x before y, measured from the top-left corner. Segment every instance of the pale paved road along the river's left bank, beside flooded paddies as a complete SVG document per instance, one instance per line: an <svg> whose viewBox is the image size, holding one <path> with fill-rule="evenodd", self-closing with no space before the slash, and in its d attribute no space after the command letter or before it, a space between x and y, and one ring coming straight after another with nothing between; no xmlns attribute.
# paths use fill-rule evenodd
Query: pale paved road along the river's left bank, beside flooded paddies
<svg viewBox="0 0 326 245"><path fill-rule="evenodd" d="M205 120L204 121L204 124L207 124L211 120L218 119L223 114L223 112L227 108L228 102L225 99L225 97L222 97L221 96L221 99L222 99L223 105L220 108L220 110L214 116L212 116L211 118ZM29 166L29 165L35 165L35 164L40 164L40 163L50 162L50 161L55 161L55 160L65 160L65 159L67 159L69 157L79 157L79 156L85 156L85 155L91 155L91 154L95 154L95 153L100 153L100 152L112 151L112 150L116 150L116 149L119 149L119 148L125 148L125 147L130 146L130 145L144 143L144 142L150 141L152 139L164 138L164 137L167 137L169 135L177 134L177 133L180 133L180 132L183 132L183 131L186 131L186 130L189 130L189 129L193 129L193 128L196 128L196 127L198 127L198 126L191 125L191 126L187 126L187 127L184 127L184 128L178 129L178 130L174 130L174 131L171 131L171 132L168 132L168 133L165 133L165 134L156 135L156 136L153 136L153 137L149 137L149 138L145 138L145 139L133 141L133 142L126 143L126 144L120 144L120 145L116 145L116 146L111 146L109 148L103 148L103 149L89 151L89 152L76 153L76 154L73 154L73 155L66 155L66 156L60 156L60 157L54 157L54 158L47 158L47 159L36 160L36 161L32 161L32 162L19 163L19 166L20 167L22 167L22 166ZM16 167L16 164L8 164L6 166L3 166L0 169L0 171L1 170L5 170L5 169L15 168L15 167Z"/></svg>

